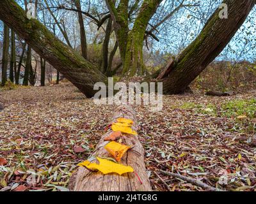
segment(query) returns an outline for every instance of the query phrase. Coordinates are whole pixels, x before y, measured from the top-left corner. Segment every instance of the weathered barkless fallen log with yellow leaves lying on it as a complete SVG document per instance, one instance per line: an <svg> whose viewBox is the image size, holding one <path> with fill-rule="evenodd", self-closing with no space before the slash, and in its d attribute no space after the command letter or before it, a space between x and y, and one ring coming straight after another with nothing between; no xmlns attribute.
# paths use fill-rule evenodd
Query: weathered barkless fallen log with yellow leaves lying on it
<svg viewBox="0 0 256 204"><path fill-rule="evenodd" d="M131 106L119 106L114 114L113 122L116 122L116 119L120 117L133 120L132 129L138 131L136 115ZM104 149L104 146L108 143L104 139L111 135L111 133L113 131L110 128L100 138L95 151L90 156L90 158L93 158L93 163L97 161L95 159L96 156L111 157L108 151ZM134 172L123 175L116 173L103 175L99 171L92 172L84 167L79 167L70 178L68 186L70 191L152 191L144 163L144 149L138 136L125 134L122 136L122 143L133 148L125 153L120 163L131 166Z"/></svg>

